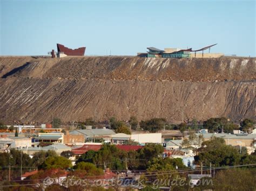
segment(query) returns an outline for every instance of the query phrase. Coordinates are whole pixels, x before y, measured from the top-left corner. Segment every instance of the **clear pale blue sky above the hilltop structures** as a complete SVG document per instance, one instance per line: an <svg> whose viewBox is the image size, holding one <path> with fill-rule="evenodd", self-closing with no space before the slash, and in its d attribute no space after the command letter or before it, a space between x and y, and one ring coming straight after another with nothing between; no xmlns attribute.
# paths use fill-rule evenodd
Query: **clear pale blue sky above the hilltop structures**
<svg viewBox="0 0 256 191"><path fill-rule="evenodd" d="M46 55L57 43L85 55L218 43L211 52L256 56L255 1L0 1L0 55Z"/></svg>

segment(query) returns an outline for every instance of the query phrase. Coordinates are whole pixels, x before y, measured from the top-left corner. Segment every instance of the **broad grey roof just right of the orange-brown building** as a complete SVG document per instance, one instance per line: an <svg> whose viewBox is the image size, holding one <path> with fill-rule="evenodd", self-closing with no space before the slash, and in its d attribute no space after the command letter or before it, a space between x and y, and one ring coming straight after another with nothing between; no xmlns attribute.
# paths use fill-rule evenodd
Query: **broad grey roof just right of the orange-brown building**
<svg viewBox="0 0 256 191"><path fill-rule="evenodd" d="M95 135L114 135L116 134L111 129L82 129L74 130L70 132L71 135L86 135L86 136L95 136Z"/></svg>

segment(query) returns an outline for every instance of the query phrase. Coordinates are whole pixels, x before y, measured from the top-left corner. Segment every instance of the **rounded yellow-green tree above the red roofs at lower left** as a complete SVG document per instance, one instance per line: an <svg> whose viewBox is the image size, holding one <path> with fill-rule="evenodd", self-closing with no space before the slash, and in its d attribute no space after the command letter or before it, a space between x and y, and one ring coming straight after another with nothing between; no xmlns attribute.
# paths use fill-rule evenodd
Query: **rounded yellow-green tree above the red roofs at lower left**
<svg viewBox="0 0 256 191"><path fill-rule="evenodd" d="M52 168L59 168L59 169L67 169L72 166L71 160L66 159L65 157L48 157L43 162L39 169L52 169Z"/></svg>

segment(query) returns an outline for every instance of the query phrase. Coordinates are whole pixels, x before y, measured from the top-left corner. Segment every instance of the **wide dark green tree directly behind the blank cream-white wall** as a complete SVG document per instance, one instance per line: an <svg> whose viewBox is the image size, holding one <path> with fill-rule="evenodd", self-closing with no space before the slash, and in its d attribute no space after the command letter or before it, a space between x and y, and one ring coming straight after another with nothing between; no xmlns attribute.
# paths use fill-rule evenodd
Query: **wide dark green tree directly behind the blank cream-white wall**
<svg viewBox="0 0 256 191"><path fill-rule="evenodd" d="M157 132L164 129L164 126L167 124L166 119L164 118L152 118L147 121L141 121L139 123L140 127L145 131Z"/></svg>

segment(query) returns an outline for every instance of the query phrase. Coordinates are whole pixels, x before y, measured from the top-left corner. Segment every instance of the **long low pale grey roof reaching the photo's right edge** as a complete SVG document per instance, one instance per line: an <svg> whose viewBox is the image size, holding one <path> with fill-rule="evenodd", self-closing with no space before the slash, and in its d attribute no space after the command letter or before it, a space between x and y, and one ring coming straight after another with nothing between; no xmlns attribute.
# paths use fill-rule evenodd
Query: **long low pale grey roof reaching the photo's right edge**
<svg viewBox="0 0 256 191"><path fill-rule="evenodd" d="M196 133L197 136L203 135L204 138L220 137L224 139L256 139L256 135L248 134L248 135L233 135L228 133ZM188 136L186 136L188 137Z"/></svg>

